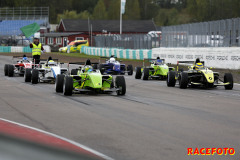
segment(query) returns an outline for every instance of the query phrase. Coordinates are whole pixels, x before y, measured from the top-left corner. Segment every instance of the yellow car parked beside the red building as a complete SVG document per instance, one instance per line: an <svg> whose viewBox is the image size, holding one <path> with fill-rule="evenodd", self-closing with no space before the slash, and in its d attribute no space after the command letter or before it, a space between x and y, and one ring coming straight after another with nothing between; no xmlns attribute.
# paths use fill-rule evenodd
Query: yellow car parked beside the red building
<svg viewBox="0 0 240 160"><path fill-rule="evenodd" d="M81 52L82 46L89 46L88 40L72 41L66 47L59 48L59 52L62 53Z"/></svg>

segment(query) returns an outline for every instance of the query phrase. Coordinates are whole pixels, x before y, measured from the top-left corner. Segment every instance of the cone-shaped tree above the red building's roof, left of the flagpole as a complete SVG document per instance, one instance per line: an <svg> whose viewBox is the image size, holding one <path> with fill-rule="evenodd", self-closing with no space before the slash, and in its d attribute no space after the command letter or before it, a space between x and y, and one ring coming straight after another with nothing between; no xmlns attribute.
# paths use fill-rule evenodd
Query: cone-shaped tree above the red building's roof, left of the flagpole
<svg viewBox="0 0 240 160"><path fill-rule="evenodd" d="M103 0L99 0L93 10L94 19L107 19L106 7Z"/></svg>

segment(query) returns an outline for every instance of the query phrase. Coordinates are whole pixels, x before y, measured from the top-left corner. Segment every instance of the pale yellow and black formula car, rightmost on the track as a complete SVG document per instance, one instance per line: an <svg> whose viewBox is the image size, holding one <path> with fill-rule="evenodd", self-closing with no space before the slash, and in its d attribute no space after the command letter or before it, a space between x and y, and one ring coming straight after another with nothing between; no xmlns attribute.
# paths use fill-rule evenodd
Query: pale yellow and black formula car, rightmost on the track
<svg viewBox="0 0 240 160"><path fill-rule="evenodd" d="M188 71L178 70L179 63L193 64ZM233 88L233 76L231 73L225 73L223 79L220 78L218 72L213 72L204 66L204 61L195 63L193 61L178 61L177 71L169 71L167 78L167 86L174 87L176 81L179 82L181 89L189 87L213 88L224 86L226 90Z"/></svg>

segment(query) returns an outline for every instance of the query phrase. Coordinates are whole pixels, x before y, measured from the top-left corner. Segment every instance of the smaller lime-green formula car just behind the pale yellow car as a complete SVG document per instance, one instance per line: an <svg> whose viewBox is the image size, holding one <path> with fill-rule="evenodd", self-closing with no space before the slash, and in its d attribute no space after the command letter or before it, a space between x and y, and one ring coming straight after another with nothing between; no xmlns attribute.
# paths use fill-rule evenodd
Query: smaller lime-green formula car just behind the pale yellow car
<svg viewBox="0 0 240 160"><path fill-rule="evenodd" d="M145 66L145 61L150 62L150 66ZM141 79L143 74L143 80L162 80L167 78L167 73L171 70L175 70L174 67L168 67L164 59L144 59L143 67L136 67L135 78Z"/></svg>

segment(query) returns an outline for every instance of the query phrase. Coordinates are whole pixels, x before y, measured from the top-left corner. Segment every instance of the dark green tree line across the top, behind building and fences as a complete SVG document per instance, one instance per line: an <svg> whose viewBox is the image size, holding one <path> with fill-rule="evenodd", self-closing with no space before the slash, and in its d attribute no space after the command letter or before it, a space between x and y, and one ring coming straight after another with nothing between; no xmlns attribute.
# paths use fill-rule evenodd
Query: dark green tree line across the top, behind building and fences
<svg viewBox="0 0 240 160"><path fill-rule="evenodd" d="M153 19L157 26L240 17L239 0L126 0L126 20ZM119 19L120 0L1 0L0 7L46 7L60 19Z"/></svg>

